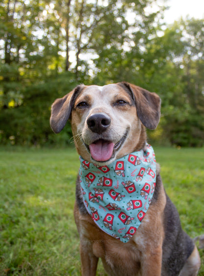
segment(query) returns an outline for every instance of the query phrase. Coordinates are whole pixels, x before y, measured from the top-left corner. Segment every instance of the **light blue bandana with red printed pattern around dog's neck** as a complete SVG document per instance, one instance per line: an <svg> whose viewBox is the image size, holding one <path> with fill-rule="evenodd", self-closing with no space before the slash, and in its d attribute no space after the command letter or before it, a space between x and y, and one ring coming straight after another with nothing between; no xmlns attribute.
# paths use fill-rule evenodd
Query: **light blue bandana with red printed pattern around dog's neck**
<svg viewBox="0 0 204 276"><path fill-rule="evenodd" d="M128 242L140 226L153 198L156 161L151 145L98 166L79 157L84 205L107 234Z"/></svg>

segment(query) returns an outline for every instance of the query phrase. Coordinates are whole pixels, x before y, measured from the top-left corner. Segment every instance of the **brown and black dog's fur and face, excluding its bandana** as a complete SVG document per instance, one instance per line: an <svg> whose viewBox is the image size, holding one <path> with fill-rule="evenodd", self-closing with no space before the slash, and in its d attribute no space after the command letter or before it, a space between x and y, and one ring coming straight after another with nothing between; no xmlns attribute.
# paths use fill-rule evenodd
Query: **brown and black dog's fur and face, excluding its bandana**
<svg viewBox="0 0 204 276"><path fill-rule="evenodd" d="M155 129L160 98L121 82L79 85L51 107L51 128L59 133L71 121L78 154L98 166L110 164L146 145L145 128ZM80 237L82 276L96 275L98 259L111 276L195 276L200 256L181 229L176 207L166 195L159 165L151 205L140 227L123 243L102 231L87 212L77 178L75 221Z"/></svg>

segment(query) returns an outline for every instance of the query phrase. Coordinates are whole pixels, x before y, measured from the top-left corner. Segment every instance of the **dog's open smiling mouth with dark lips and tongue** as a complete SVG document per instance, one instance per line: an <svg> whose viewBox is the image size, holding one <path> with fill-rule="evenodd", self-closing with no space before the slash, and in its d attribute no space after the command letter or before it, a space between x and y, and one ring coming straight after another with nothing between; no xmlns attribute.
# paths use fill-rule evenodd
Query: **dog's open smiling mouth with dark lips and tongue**
<svg viewBox="0 0 204 276"><path fill-rule="evenodd" d="M115 157L116 152L123 145L127 135L128 131L126 131L123 137L116 144L109 140L98 139L90 145L86 145L86 147L93 160L98 162L109 161Z"/></svg>

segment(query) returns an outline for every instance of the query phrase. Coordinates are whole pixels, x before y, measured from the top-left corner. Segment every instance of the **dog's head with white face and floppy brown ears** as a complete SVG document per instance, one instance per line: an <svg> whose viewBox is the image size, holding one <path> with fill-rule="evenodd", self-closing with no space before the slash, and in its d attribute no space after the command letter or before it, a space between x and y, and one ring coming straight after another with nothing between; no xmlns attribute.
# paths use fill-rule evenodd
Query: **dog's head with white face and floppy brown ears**
<svg viewBox="0 0 204 276"><path fill-rule="evenodd" d="M51 107L51 128L59 133L68 119L77 152L84 160L104 165L145 144L145 127L155 129L160 98L121 82L105 86L79 85Z"/></svg>

